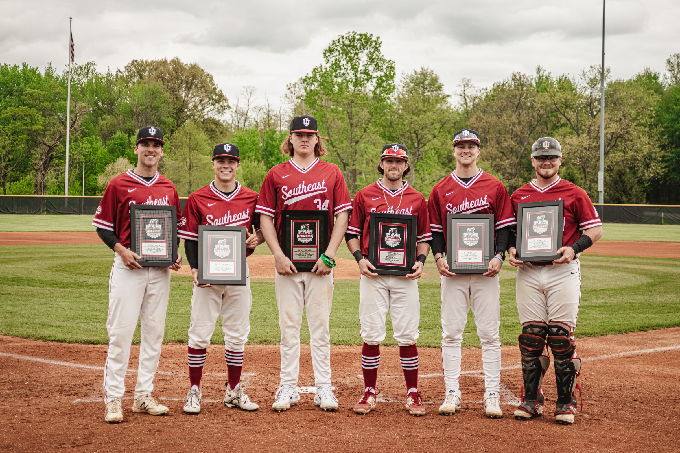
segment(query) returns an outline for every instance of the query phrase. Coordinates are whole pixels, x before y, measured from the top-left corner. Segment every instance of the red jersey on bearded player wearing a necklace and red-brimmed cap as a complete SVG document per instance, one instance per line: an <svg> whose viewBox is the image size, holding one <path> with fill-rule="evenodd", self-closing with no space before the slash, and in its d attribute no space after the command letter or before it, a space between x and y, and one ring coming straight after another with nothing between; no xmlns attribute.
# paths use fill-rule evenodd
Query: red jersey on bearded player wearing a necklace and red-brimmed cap
<svg viewBox="0 0 680 453"><path fill-rule="evenodd" d="M347 232L358 234L361 241L361 254L369 254L369 223L371 213L412 214L418 216L415 227L416 242L432 240L427 203L423 194L404 183L401 189L392 192L380 183L381 179L367 185L354 196L354 208ZM387 202L386 202L387 200Z"/></svg>

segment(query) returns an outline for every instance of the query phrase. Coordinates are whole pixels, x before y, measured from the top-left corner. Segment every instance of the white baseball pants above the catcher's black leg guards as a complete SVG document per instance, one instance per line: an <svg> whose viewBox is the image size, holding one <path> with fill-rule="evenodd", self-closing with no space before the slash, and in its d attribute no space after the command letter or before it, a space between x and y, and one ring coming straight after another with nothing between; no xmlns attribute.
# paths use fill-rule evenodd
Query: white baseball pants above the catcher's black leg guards
<svg viewBox="0 0 680 453"><path fill-rule="evenodd" d="M579 260L552 266L519 266L516 297L522 325L530 321L562 323L573 332L581 303Z"/></svg>

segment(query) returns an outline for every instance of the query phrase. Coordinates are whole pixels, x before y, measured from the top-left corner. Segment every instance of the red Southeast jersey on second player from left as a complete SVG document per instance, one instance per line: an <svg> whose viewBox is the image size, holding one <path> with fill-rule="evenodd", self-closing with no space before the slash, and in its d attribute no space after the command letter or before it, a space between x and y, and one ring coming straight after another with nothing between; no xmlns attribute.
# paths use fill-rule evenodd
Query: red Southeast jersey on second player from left
<svg viewBox="0 0 680 453"><path fill-rule="evenodd" d="M199 240L199 225L244 226L249 232L259 228L260 216L255 215L257 192L236 181L236 189L229 196L215 187L215 181L191 194L184 204L177 236ZM253 253L247 249L246 256Z"/></svg>

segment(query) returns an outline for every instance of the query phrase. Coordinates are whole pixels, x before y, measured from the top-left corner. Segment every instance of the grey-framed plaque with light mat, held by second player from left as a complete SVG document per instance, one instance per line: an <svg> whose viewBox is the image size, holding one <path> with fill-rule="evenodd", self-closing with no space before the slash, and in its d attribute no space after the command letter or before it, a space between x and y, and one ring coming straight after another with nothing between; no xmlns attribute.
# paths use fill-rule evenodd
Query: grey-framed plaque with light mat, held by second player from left
<svg viewBox="0 0 680 453"><path fill-rule="evenodd" d="M199 226L199 285L245 285L245 227Z"/></svg>

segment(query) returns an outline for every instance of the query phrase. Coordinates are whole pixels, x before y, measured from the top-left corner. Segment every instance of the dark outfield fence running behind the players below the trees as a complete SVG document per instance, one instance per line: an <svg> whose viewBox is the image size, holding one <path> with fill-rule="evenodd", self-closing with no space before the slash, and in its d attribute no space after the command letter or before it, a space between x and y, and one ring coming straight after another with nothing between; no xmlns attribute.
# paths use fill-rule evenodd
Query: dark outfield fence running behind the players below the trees
<svg viewBox="0 0 680 453"><path fill-rule="evenodd" d="M1 214L82 214L94 215L101 196L0 195ZM180 198L184 209L186 197ZM611 223L680 225L680 205L599 204L600 219Z"/></svg>

